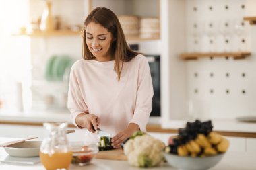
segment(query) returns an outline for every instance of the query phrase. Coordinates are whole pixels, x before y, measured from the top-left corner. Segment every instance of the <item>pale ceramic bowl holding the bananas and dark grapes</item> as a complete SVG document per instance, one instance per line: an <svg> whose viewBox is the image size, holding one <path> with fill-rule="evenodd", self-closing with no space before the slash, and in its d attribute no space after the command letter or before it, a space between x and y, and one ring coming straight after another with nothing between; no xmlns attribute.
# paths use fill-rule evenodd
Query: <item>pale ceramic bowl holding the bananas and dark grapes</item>
<svg viewBox="0 0 256 170"><path fill-rule="evenodd" d="M183 170L206 170L214 167L224 156L224 153L207 157L181 157L178 155L164 153L166 161Z"/></svg>

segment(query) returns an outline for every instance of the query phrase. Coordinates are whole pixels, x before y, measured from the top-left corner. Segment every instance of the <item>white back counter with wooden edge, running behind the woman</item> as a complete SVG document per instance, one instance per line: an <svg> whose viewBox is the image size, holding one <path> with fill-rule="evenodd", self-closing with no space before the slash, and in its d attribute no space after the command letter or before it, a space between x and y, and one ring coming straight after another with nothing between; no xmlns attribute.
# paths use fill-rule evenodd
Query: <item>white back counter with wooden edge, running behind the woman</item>
<svg viewBox="0 0 256 170"><path fill-rule="evenodd" d="M150 118L152 119L152 118ZM153 118L154 119L154 118ZM0 124L24 124L42 125L43 122L69 122L69 112L67 110L56 111L30 111L30 112L4 112L0 111ZM176 133L178 128L183 128L185 120L172 120L168 126L161 126L160 121L156 123L150 120L147 126L148 132ZM256 123L237 122L233 120L212 120L214 131L226 136L241 136L256 138Z"/></svg>

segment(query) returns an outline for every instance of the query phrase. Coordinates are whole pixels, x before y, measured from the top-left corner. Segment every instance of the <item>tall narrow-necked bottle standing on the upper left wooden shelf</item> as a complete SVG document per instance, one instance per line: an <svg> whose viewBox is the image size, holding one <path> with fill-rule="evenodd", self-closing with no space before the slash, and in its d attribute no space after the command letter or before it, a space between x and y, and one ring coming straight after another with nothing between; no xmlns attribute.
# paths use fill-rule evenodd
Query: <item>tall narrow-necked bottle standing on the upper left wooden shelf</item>
<svg viewBox="0 0 256 170"><path fill-rule="evenodd" d="M53 17L51 13L51 1L46 1L46 8L44 9L41 17L40 30L50 32L54 30Z"/></svg>

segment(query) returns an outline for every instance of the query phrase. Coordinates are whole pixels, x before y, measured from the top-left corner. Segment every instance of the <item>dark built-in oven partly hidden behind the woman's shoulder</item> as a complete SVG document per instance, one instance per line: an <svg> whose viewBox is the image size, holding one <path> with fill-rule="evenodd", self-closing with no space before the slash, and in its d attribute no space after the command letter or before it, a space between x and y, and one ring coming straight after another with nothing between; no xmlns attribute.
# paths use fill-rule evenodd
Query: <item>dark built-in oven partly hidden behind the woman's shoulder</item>
<svg viewBox="0 0 256 170"><path fill-rule="evenodd" d="M146 54L150 65L150 73L152 77L154 96L152 99L152 111L150 116L161 116L161 102L160 102L160 55Z"/></svg>

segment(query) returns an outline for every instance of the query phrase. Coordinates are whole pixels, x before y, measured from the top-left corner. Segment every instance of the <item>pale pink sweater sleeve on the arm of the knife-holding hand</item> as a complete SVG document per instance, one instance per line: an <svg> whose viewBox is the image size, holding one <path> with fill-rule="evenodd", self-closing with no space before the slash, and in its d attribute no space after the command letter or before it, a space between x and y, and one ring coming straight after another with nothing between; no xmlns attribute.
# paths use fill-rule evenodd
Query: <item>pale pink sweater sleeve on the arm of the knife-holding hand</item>
<svg viewBox="0 0 256 170"><path fill-rule="evenodd" d="M69 91L68 91L68 98L67 98L67 108L71 112L70 114L71 121L75 126L77 126L77 124L75 123L75 118L77 117L77 115L81 113L86 114L86 112L88 112L88 106L84 102L84 99L82 97L82 92L80 90L79 83L78 83L79 78L77 77L77 71L76 71L77 66L79 65L75 63L71 68L70 77L69 77Z"/></svg>

